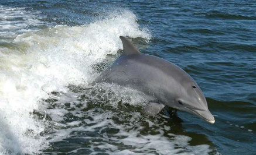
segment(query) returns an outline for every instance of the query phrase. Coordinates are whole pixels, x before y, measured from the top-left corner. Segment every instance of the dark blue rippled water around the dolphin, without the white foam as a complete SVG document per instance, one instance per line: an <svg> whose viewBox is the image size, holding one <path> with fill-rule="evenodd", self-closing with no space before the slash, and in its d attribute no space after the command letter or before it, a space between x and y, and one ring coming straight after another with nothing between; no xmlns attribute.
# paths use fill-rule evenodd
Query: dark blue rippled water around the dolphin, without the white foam
<svg viewBox="0 0 256 155"><path fill-rule="evenodd" d="M75 120L81 121L75 128L78 128L79 126L79 128L86 129L91 125L98 123L96 121L94 124L90 125L90 123L86 121L83 122L83 120L87 119L95 120L94 117L90 116L91 113L88 114L88 111L93 111L93 116L105 114L103 111L108 111L120 117L110 117L110 119L112 119L116 125L124 125L122 128L137 129L140 128L140 126L148 126L146 125L148 122L146 121L147 119L160 126L155 127L155 132L157 132L158 128L169 126L169 129L163 130L164 133L162 134L162 138L172 139L170 133L187 136L192 138L192 140L188 142L188 146L208 145L211 151L206 152L206 154L255 154L256 1L47 0L1 1L0 6L2 8L24 8L30 13L35 12L36 15L33 14L31 18L36 19L36 21L38 20L39 22L37 21L38 23L36 24L33 24L33 22L29 24L29 27L27 27L28 32L34 30L42 31L43 29L49 29L49 27L54 27L56 25L66 25L69 27L86 26L90 23L108 19L113 13L117 13L118 15L121 15L121 13L125 11L134 13L136 16L136 23L139 24L141 29L148 29L147 34L150 34L151 37L149 40L146 37L134 38L129 35L128 37L132 38L132 42L139 47L141 52L173 62L189 73L202 89L206 96L209 110L216 119L215 124L207 124L207 122L203 122L201 119L187 114L186 112L178 111L178 115L171 118L162 116L156 118L157 121L154 121L155 118L139 117L135 122L129 122L129 119L132 117L129 113L132 111L138 112L141 110L141 107L134 107L133 105L127 105L127 107L125 107L120 104L118 104L117 107L104 107L104 101L103 103L98 100L88 101L86 95L88 92L81 89L80 86L78 86L79 84L74 84L74 89L70 89L69 91L73 93L80 92L78 95L80 96L79 101L88 101L88 107L81 110L83 111L81 112L83 117L76 118ZM2 12L0 12L0 22L6 22L4 17L1 16L4 14L1 13ZM19 20L22 21L22 19L13 20L18 22ZM108 29L111 29L111 26L114 24L110 24ZM21 27L21 30L25 28L26 27ZM16 43L13 43L15 45L11 44L12 40L16 38L18 34L27 32L21 30L18 28L14 30L12 29L14 34L12 37L8 37L8 35L5 35L8 30L4 30L3 28L1 30L0 24L0 31L2 32L0 38L3 40L2 42L0 41L0 46L10 49L12 49L13 46L16 47ZM71 37L74 37L72 31L67 31L66 33L69 33ZM93 33L97 34L97 31L93 31ZM91 37L93 37L94 34L92 34ZM42 31L42 34L40 35L49 37L54 35L54 33L48 34L47 32ZM40 40L37 41L41 43ZM42 41L42 43L45 42ZM80 44L79 41L76 42L74 40L74 44L76 43ZM100 72L109 65L114 59L113 57L117 58L118 54L105 58L107 61L104 61L103 64L94 64L96 66L95 68L100 68L97 72ZM5 69L1 69L0 66L0 71L5 72ZM72 100L72 98L70 98L70 100ZM52 103L54 101L49 100L46 101L46 103ZM60 103L62 103L62 101L60 101ZM108 101L106 101L105 104L107 103ZM71 105L70 103L65 103L62 105L64 107L59 108L70 109L69 111L72 111L70 108L72 107ZM79 106L77 105L77 107ZM37 112L34 111L35 117L40 115L39 113L37 114ZM122 113L125 113L126 115L122 115ZM73 120L72 115L67 114L65 117L66 119L62 122L63 124L72 122L69 121L69 118L72 118ZM46 120L49 120L49 124L51 124L50 121L52 121L52 119L50 116L48 119L47 118L48 117L46 117ZM117 121L117 119L120 120ZM54 135L52 132L54 130L52 128L47 127L41 135ZM57 130L58 128L60 127L54 129ZM121 152L122 150L130 149L135 150L133 153L138 154L165 154L159 151L148 152L148 150L145 151L143 149L136 150L136 147L132 145L127 145L124 142L117 142L117 140L111 140L114 139L114 136L112 135L118 134L118 130L115 131L115 129L111 128L103 129L102 127L99 127L90 132L81 132L78 129L74 129L70 132L69 138L62 139L59 142L50 142L50 146L44 147L44 149L40 151L42 154L111 154L111 152L113 154L118 154L118 152L122 154L124 153ZM145 131L139 131L138 134L157 135L157 133L153 133L154 128L149 128L149 126L145 127ZM51 138L53 137L52 135L50 136ZM54 136L57 137L58 135ZM112 148L110 146L91 149L91 147L97 147L97 145L91 145L94 141L84 141L83 139L86 139L87 136L89 136L91 140L103 136L102 139L105 140L103 140L104 143L108 143L105 139L108 137L108 144L111 144L118 149L110 149ZM67 145L67 143L69 145ZM98 143L101 143L101 141ZM67 149L67 146L69 149ZM182 146L179 147L183 148ZM77 151L78 148L82 151ZM196 148L194 148L193 151L187 148L188 147L180 152L169 152L166 154L203 154L202 152L194 151ZM76 150L76 152L72 152L72 150ZM22 153L27 152L21 152L21 154Z"/></svg>

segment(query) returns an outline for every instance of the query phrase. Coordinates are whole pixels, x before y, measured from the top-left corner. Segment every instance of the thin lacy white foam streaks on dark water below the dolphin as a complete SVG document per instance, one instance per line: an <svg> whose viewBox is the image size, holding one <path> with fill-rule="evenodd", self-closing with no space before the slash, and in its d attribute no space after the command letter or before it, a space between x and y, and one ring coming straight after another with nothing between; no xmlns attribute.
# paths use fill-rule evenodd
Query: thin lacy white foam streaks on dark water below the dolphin
<svg viewBox="0 0 256 155"><path fill-rule="evenodd" d="M74 110L82 112L81 110ZM209 154L213 150L209 145L190 146L189 141L192 140L189 136L175 135L165 133L165 121L160 123L152 122L150 119L143 118L139 112L129 114L128 112L113 112L111 110L95 110L95 108L83 111L83 116L90 119L83 119L83 125L70 128L59 129L56 133L57 138L50 142L63 141L70 138L89 139L91 154L104 153L106 154ZM126 115L129 115L127 121ZM159 116L157 116L159 117ZM118 121L114 121L118 119ZM143 120L145 119L145 120ZM158 119L158 118L155 118ZM135 121L141 120L141 121ZM142 122L149 122L148 125L142 125ZM74 121L74 125L80 124L81 121ZM120 123L121 122L121 123ZM118 132L109 134L102 132L105 129L117 130ZM153 135L141 134L142 131L153 131ZM72 134L71 134L72 133ZM81 134L80 134L81 133ZM83 135L86 133L86 135ZM90 133L99 133L100 136L94 136ZM61 139L62 138L62 139ZM97 140L95 140L97 139ZM87 142L87 140L85 140ZM72 144L70 144L72 145ZM88 146L85 146L88 148ZM75 148L75 147L74 147ZM100 150L99 150L100 149ZM72 152L77 152L74 149Z"/></svg>

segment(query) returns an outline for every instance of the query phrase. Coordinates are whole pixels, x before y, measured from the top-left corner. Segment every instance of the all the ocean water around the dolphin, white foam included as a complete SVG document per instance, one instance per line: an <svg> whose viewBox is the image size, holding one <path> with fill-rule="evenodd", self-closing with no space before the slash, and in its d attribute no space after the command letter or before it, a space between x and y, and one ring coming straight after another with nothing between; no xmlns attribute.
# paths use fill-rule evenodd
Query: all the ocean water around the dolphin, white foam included
<svg viewBox="0 0 256 155"><path fill-rule="evenodd" d="M216 119L91 87L127 36L184 69ZM256 152L256 1L0 1L0 154Z"/></svg>

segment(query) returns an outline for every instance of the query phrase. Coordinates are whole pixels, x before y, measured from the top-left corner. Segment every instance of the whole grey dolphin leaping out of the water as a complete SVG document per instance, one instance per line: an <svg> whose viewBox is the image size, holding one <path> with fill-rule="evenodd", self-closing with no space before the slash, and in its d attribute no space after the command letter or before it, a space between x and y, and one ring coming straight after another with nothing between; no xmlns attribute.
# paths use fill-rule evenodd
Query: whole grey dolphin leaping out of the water
<svg viewBox="0 0 256 155"><path fill-rule="evenodd" d="M214 124L202 90L175 64L142 54L125 37L120 37L123 54L98 76L94 83L115 83L141 91L149 100L144 113L155 116L165 105L190 112Z"/></svg>

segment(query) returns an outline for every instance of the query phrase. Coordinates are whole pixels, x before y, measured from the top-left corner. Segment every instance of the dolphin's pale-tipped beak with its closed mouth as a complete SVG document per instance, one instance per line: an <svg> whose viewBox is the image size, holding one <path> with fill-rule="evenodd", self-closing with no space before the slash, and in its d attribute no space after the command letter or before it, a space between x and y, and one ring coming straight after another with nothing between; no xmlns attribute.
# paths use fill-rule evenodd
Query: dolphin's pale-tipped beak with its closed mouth
<svg viewBox="0 0 256 155"><path fill-rule="evenodd" d="M204 111L204 110L193 110L192 108L188 108L188 107L185 107L185 108L190 112L192 112L193 114L196 114L200 118L203 118L205 121L209 122L210 124L214 124L215 119L209 110Z"/></svg>

